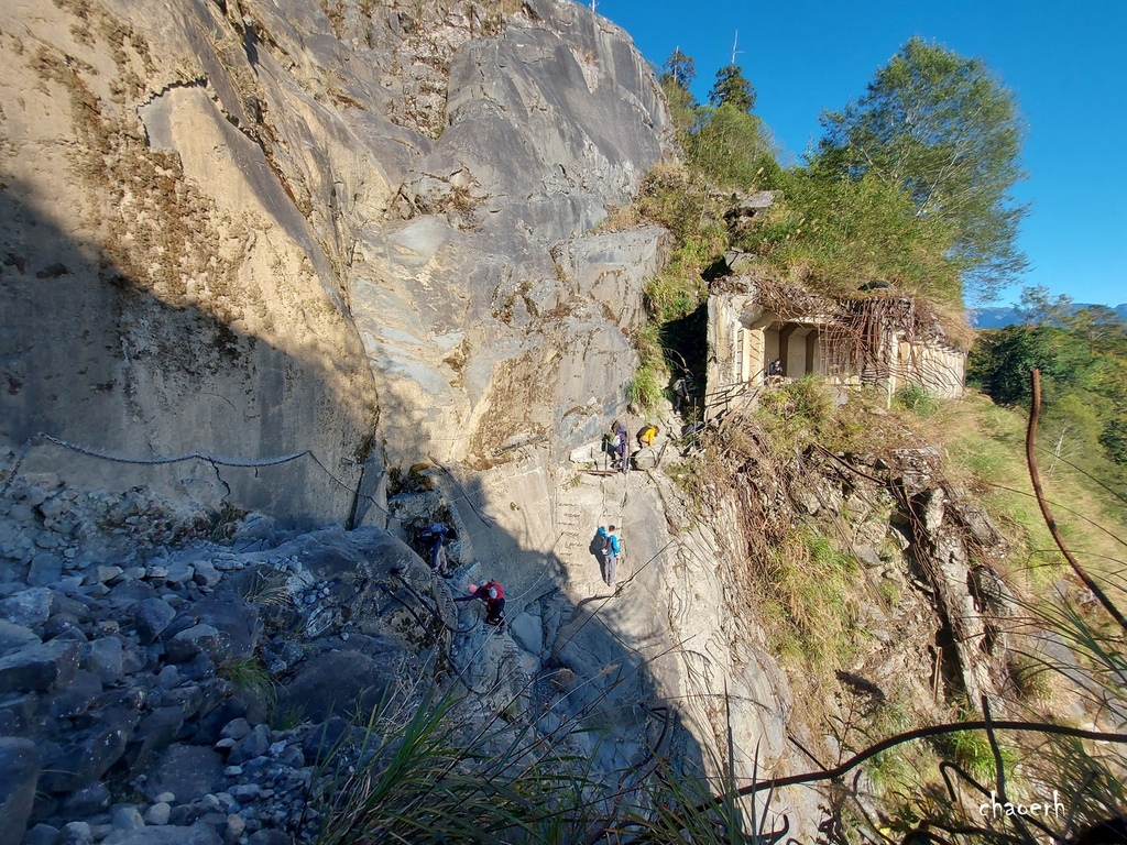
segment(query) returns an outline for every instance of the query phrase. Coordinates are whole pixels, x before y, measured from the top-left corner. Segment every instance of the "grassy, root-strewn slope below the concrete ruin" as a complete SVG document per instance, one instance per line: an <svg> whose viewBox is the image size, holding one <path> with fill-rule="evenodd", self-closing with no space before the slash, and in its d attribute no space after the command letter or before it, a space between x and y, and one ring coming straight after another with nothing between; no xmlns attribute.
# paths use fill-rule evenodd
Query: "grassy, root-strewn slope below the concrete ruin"
<svg viewBox="0 0 1127 845"><path fill-rule="evenodd" d="M1042 836L1063 837L1066 815L1075 833L1082 818L1127 807L1118 750L1127 741L1118 727L1127 715L1124 632L1077 589L1045 525L1026 468L1026 424L1024 409L980 394L905 394L886 411L880 397L852 393L840 404L833 389L806 379L726 418L671 471L701 519L724 509L718 499L740 502L746 549L726 550L730 566L747 570L735 601L746 602L787 670L792 730L825 735L832 756L819 757L824 765L862 757L826 793L824 842L908 842L913 830L967 845L1038 842L1023 819L976 815L1000 782L1027 803L1057 790L1067 810L1037 828ZM1051 451L1038 447L1042 466ZM921 471L931 479L924 487ZM1121 584L1122 501L1063 462L1041 481L1072 552L1109 588ZM928 492L931 484L942 495ZM951 576L933 567L956 560L953 535L929 540L949 530L925 526L940 500L967 543L975 615L991 632L962 655L949 630L931 639L937 614L959 624L934 592ZM979 506L1001 530L1001 545L978 545L967 530ZM870 531L881 526L894 531ZM898 534L913 549L907 570L889 542ZM929 550L941 558L929 560ZM986 586L985 572L1004 587ZM982 702L964 688L968 655L1001 673L990 712L1009 729L984 728ZM1081 728L1104 744L1068 736ZM818 755L817 740L801 741ZM810 780L817 776L811 766ZM758 788L766 784L740 786Z"/></svg>

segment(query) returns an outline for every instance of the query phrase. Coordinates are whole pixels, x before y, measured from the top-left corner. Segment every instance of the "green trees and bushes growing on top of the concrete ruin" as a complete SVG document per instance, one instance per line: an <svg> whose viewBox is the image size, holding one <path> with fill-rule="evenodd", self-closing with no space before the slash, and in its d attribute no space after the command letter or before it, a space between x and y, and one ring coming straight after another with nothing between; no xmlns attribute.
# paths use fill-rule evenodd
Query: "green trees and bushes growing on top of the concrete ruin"
<svg viewBox="0 0 1127 845"><path fill-rule="evenodd" d="M863 97L823 116L825 136L790 167L738 65L720 71L708 106L689 90L694 77L692 59L674 51L660 82L684 163L651 172L633 210L676 238L646 291L656 329L637 343L640 404L660 395L669 371L699 368L700 331L686 329L701 326L707 282L728 249L754 256L765 277L827 296L886 281L931 301L953 336L965 333L966 293L988 296L1024 266L1014 244L1024 210L1010 195L1023 125L980 60L913 38ZM734 213L756 192L771 192L769 207Z"/></svg>

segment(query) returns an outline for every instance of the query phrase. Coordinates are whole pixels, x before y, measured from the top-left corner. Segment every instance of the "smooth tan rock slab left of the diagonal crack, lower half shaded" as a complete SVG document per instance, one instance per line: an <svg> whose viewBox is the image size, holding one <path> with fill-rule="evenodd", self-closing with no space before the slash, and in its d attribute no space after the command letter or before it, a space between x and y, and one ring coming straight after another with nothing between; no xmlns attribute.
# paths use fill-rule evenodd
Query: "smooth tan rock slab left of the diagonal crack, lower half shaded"
<svg viewBox="0 0 1127 845"><path fill-rule="evenodd" d="M0 436L185 517L345 521L378 406L330 257L232 124L211 7L148 14L6 9Z"/></svg>

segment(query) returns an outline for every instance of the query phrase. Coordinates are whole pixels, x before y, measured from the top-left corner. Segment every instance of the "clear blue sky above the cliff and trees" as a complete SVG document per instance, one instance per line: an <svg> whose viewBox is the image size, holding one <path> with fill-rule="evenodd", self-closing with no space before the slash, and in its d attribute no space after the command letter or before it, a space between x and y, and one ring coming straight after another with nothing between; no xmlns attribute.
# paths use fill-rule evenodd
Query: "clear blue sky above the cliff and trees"
<svg viewBox="0 0 1127 845"><path fill-rule="evenodd" d="M1014 190L1031 207L1023 285L1076 302L1127 302L1127 0L596 0L650 62L674 47L707 103L731 61L755 87L755 112L796 157L913 35L983 59L1029 125ZM589 5L589 0L585 5ZM999 304L1015 300L1018 285Z"/></svg>

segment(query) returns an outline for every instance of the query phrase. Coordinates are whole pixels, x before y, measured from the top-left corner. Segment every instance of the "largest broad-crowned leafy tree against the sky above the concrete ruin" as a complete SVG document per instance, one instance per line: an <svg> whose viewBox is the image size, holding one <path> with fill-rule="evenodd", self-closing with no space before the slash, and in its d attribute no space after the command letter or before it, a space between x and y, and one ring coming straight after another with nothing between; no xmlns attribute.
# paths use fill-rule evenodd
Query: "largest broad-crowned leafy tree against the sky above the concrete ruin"
<svg viewBox="0 0 1127 845"><path fill-rule="evenodd" d="M1010 195L1024 178L1024 125L1013 92L982 60L912 38L864 97L823 114L822 125L814 168L899 184L917 216L951 222L951 258L978 299L1024 269L1014 241L1026 210Z"/></svg>

